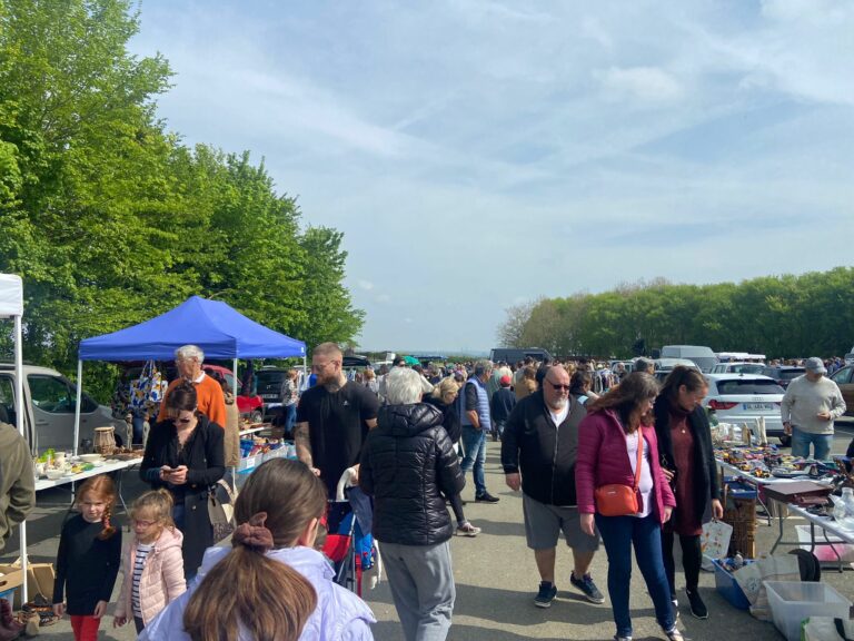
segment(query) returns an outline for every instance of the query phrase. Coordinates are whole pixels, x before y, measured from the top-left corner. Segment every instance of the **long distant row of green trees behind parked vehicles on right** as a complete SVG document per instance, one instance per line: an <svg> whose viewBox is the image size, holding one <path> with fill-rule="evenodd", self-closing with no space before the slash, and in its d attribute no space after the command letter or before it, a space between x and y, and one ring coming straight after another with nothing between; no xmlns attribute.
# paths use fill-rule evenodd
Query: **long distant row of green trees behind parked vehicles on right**
<svg viewBox="0 0 854 641"><path fill-rule="evenodd" d="M765 276L739 284L675 285L663 279L602 294L542 298L515 308L508 347L562 355L629 357L637 346L708 345L777 357L840 355L854 343L854 268ZM524 307L519 307L524 308ZM506 334L510 336L510 334Z"/></svg>

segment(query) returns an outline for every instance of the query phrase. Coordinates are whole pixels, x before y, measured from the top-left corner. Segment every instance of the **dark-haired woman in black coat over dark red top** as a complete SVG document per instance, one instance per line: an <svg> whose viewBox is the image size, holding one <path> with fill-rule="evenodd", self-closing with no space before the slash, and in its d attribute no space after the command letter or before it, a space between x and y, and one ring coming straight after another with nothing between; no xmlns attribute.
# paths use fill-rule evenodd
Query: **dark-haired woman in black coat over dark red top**
<svg viewBox="0 0 854 641"><path fill-rule="evenodd" d="M654 408L662 470L676 495L676 509L662 534L664 569L671 586L671 600L677 609L673 544L678 535L685 592L691 613L697 619L708 618L708 610L697 590L703 561L699 544L703 523L724 515L712 433L701 405L707 392L708 384L703 374L679 365L665 378Z"/></svg>

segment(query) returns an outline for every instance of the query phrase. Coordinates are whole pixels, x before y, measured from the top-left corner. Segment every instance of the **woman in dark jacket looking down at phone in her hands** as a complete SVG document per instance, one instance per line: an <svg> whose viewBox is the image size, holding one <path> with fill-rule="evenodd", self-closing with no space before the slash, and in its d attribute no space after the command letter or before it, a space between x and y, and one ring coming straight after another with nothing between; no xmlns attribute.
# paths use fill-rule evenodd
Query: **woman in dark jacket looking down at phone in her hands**
<svg viewBox="0 0 854 641"><path fill-rule="evenodd" d="M176 385L166 400L166 418L148 436L140 476L153 490L165 487L175 502L172 520L183 534L183 573L196 575L205 550L214 544L208 489L226 472L224 430L198 411L191 383Z"/></svg>

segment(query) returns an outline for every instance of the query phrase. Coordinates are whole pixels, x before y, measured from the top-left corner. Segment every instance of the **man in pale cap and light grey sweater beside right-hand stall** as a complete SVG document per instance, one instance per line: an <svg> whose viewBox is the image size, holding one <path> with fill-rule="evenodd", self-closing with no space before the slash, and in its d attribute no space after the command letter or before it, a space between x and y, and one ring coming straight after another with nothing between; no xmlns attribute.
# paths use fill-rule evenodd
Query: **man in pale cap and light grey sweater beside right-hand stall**
<svg viewBox="0 0 854 641"><path fill-rule="evenodd" d="M783 430L792 435L792 455L826 461L833 444L833 422L845 413L840 386L824 375L827 369L813 356L804 363L806 373L786 387L781 404Z"/></svg>

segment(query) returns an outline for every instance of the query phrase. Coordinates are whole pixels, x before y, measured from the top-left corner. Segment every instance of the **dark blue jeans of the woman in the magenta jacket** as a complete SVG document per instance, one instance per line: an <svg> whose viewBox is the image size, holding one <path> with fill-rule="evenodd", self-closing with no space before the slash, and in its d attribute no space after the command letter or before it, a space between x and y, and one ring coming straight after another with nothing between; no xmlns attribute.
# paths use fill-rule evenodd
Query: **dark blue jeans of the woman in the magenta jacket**
<svg viewBox="0 0 854 641"><path fill-rule="evenodd" d="M671 604L671 588L662 560L662 526L655 514L636 516L602 516L596 514L596 526L608 553L608 596L614 611L617 637L632 637L632 615L628 595L632 579L632 546L646 589L655 605L655 619L666 632L676 623Z"/></svg>

